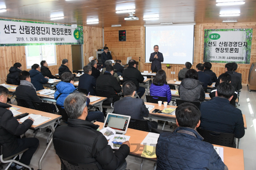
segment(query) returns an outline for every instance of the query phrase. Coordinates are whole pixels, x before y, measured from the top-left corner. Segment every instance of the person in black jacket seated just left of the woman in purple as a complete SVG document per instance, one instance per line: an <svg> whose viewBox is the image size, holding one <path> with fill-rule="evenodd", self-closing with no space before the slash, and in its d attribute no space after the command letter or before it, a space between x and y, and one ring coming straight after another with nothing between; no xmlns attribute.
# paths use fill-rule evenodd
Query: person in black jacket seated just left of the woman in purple
<svg viewBox="0 0 256 170"><path fill-rule="evenodd" d="M144 81L144 77L142 76L141 72L136 69L136 61L130 60L128 63L128 68L126 68L123 71L123 80L126 81L132 81L134 82L136 86L136 92L138 93L139 98L141 98L145 93L145 88L140 87L139 83L142 83ZM139 93L140 92L140 93Z"/></svg>

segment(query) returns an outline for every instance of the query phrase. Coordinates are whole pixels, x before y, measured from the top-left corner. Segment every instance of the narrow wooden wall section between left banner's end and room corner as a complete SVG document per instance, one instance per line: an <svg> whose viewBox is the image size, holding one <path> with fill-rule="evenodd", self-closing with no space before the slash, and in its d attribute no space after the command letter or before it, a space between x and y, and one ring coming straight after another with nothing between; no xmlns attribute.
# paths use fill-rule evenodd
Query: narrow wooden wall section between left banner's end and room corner
<svg viewBox="0 0 256 170"><path fill-rule="evenodd" d="M89 63L89 57L96 58L96 49L103 48L103 29L98 27L83 27L84 31L84 65Z"/></svg>

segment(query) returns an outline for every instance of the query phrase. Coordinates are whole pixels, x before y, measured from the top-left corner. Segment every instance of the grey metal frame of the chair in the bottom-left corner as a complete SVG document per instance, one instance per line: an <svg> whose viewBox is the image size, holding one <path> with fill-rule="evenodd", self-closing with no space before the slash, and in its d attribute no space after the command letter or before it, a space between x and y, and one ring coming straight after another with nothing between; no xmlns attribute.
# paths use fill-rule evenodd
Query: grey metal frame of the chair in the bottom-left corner
<svg viewBox="0 0 256 170"><path fill-rule="evenodd" d="M29 166L27 166L27 165L25 165L25 164L22 164L22 163L20 163L19 161L15 160L15 158L16 158L17 156L19 156L19 154L22 154L22 153L25 152L26 150L28 150L28 148L25 149L25 150L22 150L22 151L19 152L19 153L14 154L14 155L12 155L12 156L8 156L8 157L6 157L6 158L3 158L3 145L1 145L1 146L0 146L0 163L4 163L4 164L8 163L7 167L6 167L4 170L8 170L8 168L11 166L11 164L12 164L13 162L16 163L16 164L18 164L18 165L24 166L24 167L28 168L29 170L31 170L31 168L30 168ZM2 168L1 168L1 169L2 169Z"/></svg>

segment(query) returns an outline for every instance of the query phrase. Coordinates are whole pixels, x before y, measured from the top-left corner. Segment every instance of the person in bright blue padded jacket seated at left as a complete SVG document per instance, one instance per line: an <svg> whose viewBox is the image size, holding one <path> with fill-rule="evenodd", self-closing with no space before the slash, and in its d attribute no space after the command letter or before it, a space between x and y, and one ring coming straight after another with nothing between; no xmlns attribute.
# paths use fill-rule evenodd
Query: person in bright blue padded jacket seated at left
<svg viewBox="0 0 256 170"><path fill-rule="evenodd" d="M74 87L74 76L70 72L64 72L61 76L61 82L56 86L56 92L54 93L54 99L58 106L64 107L64 101L70 94L78 94L79 92ZM84 94L83 94L84 95ZM90 98L87 98L87 106L89 106ZM86 107L87 108L87 107ZM87 121L97 120L104 122L104 114L101 111L90 111L86 117Z"/></svg>

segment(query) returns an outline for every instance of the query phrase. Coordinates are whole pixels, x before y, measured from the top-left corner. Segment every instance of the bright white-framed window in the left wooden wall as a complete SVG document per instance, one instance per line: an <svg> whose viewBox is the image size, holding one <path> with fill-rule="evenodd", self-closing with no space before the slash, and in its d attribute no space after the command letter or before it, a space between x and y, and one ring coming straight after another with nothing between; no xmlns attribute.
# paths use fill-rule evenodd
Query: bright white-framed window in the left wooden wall
<svg viewBox="0 0 256 170"><path fill-rule="evenodd" d="M57 65L56 45L28 45L26 49L27 69L33 64L39 64L45 60L48 66Z"/></svg>

